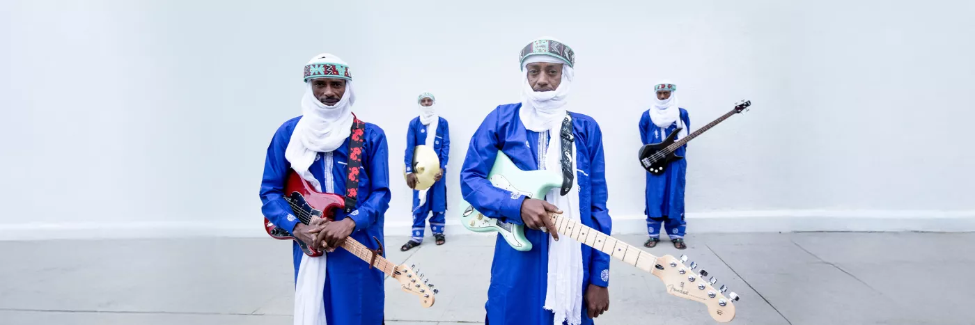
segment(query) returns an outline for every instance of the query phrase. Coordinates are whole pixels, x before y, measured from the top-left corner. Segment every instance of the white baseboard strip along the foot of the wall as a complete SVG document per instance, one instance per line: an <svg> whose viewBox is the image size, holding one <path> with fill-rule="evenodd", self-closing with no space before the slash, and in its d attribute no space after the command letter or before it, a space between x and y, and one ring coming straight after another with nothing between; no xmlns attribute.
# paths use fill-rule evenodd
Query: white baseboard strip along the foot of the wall
<svg viewBox="0 0 975 325"><path fill-rule="evenodd" d="M213 228L198 222L101 222L52 224L0 224L0 240L166 238L186 236L265 236L259 216L254 220L221 220ZM776 232L975 232L971 211L883 210L765 210L687 213L687 233ZM448 235L467 232L456 220L447 223ZM385 235L409 235L406 221L386 222ZM643 234L642 215L613 217L613 234ZM488 234L489 235L489 234Z"/></svg>

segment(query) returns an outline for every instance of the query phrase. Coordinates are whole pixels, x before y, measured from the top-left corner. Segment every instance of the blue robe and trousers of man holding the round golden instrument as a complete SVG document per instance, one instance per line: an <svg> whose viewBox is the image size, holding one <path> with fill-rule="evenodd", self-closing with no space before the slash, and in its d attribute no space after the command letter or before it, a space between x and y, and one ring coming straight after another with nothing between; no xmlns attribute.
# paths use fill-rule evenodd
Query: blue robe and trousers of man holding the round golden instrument
<svg viewBox="0 0 975 325"><path fill-rule="evenodd" d="M447 211L447 161L450 153L450 127L447 120L439 118L437 123L437 138L433 142L433 150L440 159L440 167L444 169L445 177L433 183L433 186L426 192L426 201L420 205L418 197L419 191L413 191L413 228L412 239L423 241L423 229L426 217L433 212L430 217L430 230L433 234L444 234L444 211ZM418 145L426 144L427 126L420 123L420 118L414 118L409 122L407 128L407 150L404 155L404 163L407 165L407 172L412 172L413 148Z"/></svg>

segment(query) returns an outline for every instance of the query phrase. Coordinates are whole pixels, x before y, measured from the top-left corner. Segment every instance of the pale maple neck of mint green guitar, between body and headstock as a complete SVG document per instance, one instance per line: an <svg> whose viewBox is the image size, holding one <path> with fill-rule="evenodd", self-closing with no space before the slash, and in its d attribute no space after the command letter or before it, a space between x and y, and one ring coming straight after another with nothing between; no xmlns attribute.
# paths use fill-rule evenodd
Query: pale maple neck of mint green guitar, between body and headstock
<svg viewBox="0 0 975 325"><path fill-rule="evenodd" d="M605 235L577 221L568 220L559 214L552 214L552 218L559 231L559 235L569 236L586 246L596 248L623 263L637 267L643 271L652 271L653 267L657 264L656 256L623 242L623 240L613 238L611 235Z"/></svg>

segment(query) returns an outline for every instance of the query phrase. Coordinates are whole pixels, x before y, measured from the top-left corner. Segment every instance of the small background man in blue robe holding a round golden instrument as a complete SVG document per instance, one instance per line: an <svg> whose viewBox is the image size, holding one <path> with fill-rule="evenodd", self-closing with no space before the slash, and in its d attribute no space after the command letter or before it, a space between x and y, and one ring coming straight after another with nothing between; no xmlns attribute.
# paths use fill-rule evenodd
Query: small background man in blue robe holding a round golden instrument
<svg viewBox="0 0 975 325"><path fill-rule="evenodd" d="M450 128L447 120L437 115L437 98L433 93L423 92L416 98L420 108L420 115L409 122L407 131L407 153L404 163L407 165L407 185L416 187L416 174L413 173L413 148L426 145L437 153L440 159L440 170L435 175L436 182L427 190L413 190L413 229L412 234L401 251L418 246L423 242L423 229L426 226L427 215L430 217L430 231L438 245L447 242L444 236L444 212L447 211L447 184L444 172L447 170L447 160L450 154Z"/></svg>

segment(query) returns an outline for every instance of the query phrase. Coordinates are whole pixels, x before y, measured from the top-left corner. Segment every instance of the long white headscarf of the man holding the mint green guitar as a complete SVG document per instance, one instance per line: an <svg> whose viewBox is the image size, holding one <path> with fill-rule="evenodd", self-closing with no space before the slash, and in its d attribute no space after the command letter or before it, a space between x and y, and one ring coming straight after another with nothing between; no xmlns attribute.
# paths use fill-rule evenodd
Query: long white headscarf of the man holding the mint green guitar
<svg viewBox="0 0 975 325"><path fill-rule="evenodd" d="M542 38L558 41L553 38ZM560 42L562 43L562 42ZM525 67L528 63L551 62L563 63L562 82L553 91L535 91L528 84ZM544 54L529 55L522 63L522 109L519 111L519 118L527 129L536 132L548 131L548 150L545 152L545 161L539 163L539 167L548 170L557 170L562 173L562 122L567 111L565 110L565 99L572 86L574 71L572 67L565 64L565 61L558 57ZM575 150L575 142L572 142L572 152L578 156ZM575 157L572 157L572 167L576 170ZM568 194L561 195L561 188L549 191L545 200L558 206L563 211L562 216L569 220L578 222L579 218L579 186L578 182L572 182L572 188ZM555 313L554 325L561 325L563 321L569 325L578 325L582 322L582 246L581 244L567 235L562 235L556 241L549 237L549 259L548 259L548 286L545 289L545 309Z"/></svg>

